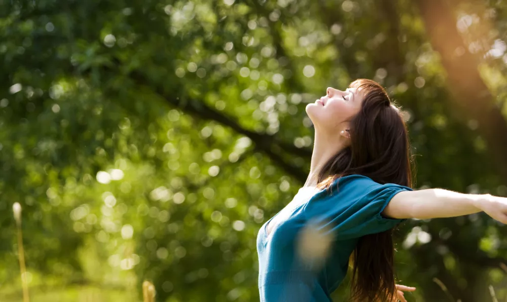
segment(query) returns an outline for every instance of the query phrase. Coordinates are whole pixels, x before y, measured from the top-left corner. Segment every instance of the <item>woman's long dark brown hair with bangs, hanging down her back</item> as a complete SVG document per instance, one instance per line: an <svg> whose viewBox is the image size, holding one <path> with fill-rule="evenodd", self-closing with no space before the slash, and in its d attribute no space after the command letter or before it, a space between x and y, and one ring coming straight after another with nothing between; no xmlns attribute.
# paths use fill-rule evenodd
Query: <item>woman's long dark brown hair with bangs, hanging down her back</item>
<svg viewBox="0 0 507 302"><path fill-rule="evenodd" d="M335 179L360 174L381 184L412 187L410 145L400 109L375 81L358 79L349 87L364 95L361 109L350 121L350 146L324 164L317 186L330 190ZM351 300L392 301L396 292L393 254L392 230L359 239L351 255Z"/></svg>

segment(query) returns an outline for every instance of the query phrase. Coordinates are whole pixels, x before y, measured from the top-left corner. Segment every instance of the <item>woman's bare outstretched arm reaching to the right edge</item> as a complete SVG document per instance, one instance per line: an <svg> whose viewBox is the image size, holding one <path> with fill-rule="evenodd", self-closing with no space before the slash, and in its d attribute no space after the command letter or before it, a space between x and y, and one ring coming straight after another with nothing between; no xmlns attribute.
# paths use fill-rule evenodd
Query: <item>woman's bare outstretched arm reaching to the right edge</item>
<svg viewBox="0 0 507 302"><path fill-rule="evenodd" d="M507 198L490 194L463 194L441 188L403 191L394 195L383 215L391 218L442 218L484 211L507 223Z"/></svg>

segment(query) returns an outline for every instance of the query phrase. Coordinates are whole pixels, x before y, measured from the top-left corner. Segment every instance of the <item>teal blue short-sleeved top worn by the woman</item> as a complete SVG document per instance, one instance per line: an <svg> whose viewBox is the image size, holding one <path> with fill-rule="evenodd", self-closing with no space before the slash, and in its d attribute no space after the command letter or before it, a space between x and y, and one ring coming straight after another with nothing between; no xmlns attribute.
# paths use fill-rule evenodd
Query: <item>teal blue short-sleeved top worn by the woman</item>
<svg viewBox="0 0 507 302"><path fill-rule="evenodd" d="M313 188L305 198L302 189L299 200L295 197L257 235L261 302L332 301L330 295L345 277L359 237L403 221L381 212L396 193L412 191L362 175L335 180L331 195ZM268 235L266 226L278 215Z"/></svg>

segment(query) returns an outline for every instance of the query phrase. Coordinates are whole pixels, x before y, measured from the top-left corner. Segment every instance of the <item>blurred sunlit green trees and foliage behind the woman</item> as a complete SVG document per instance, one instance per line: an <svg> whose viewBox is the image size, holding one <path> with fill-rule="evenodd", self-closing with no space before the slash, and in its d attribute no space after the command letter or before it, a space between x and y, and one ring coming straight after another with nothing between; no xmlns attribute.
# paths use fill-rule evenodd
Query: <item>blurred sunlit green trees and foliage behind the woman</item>
<svg viewBox="0 0 507 302"><path fill-rule="evenodd" d="M256 235L309 171L305 106L380 82L417 188L507 195L507 3L0 1L0 300L259 299ZM409 301L507 299L485 215L396 234ZM445 286L445 287L444 287ZM344 300L348 281L334 293Z"/></svg>

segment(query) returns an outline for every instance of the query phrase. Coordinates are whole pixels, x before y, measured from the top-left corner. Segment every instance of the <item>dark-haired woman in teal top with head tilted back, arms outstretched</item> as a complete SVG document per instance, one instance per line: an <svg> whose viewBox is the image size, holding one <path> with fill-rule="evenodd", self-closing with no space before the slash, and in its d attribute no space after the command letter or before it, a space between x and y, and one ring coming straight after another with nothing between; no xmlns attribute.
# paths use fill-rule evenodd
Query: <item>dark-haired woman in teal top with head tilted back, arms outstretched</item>
<svg viewBox="0 0 507 302"><path fill-rule="evenodd" d="M397 224L479 211L507 223L507 198L412 191L406 126L376 82L328 88L306 112L315 126L308 179L257 237L261 301L331 301L349 258L351 300L405 301L401 290L415 288L395 285Z"/></svg>

